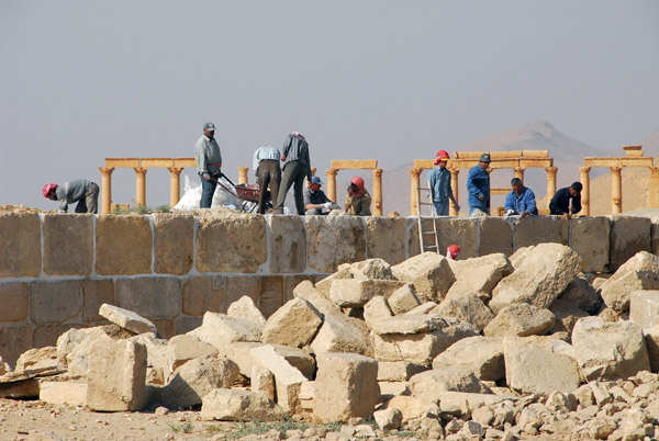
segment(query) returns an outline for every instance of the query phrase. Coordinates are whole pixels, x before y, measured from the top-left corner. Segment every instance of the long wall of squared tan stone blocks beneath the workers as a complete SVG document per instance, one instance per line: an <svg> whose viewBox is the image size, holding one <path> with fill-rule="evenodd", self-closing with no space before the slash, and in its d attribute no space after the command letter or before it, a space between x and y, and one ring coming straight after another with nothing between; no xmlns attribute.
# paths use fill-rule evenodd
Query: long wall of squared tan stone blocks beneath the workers
<svg viewBox="0 0 659 441"><path fill-rule="evenodd" d="M424 219L429 224L432 220ZM425 229L432 229L427 225ZM639 250L656 252L659 228L637 217L437 219L439 247L460 259L556 241L584 271L614 271ZM187 332L204 312L249 295L269 315L303 280L344 262L418 253L415 218L182 214L0 214L0 355L13 363L54 344L70 327L103 324L103 303L152 319L163 337Z"/></svg>

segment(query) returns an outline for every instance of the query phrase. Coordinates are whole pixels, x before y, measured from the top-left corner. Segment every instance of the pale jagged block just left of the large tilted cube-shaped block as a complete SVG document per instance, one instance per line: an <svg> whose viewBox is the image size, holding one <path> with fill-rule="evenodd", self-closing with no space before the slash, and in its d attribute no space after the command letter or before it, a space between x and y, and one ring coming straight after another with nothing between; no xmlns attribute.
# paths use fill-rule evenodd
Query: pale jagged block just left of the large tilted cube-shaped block
<svg viewBox="0 0 659 441"><path fill-rule="evenodd" d="M235 341L260 341L260 330L249 320L224 314L205 313L202 325L188 332L220 351Z"/></svg>

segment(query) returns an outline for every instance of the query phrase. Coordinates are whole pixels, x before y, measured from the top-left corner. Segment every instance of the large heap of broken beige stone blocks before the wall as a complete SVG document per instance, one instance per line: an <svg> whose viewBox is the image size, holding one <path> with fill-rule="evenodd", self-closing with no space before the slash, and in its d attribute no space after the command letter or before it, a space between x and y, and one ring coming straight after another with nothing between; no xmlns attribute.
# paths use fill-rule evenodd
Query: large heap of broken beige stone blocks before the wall
<svg viewBox="0 0 659 441"><path fill-rule="evenodd" d="M0 397L354 429L327 439L659 437L659 258L597 276L580 267L558 244L368 259L300 283L267 319L245 296L169 340L103 305L112 325L70 329L13 372L0 360ZM380 431L350 426L370 419Z"/></svg>

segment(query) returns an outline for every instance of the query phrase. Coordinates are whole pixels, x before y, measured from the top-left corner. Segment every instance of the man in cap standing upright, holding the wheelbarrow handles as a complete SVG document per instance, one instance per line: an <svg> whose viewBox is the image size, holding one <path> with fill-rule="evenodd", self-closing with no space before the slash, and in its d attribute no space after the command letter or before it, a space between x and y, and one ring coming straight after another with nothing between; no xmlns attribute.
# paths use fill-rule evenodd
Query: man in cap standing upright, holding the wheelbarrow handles
<svg viewBox="0 0 659 441"><path fill-rule="evenodd" d="M205 123L203 135L194 145L194 159L197 171L201 178L201 208L210 208L217 186L217 179L222 176L222 154L215 140L215 125Z"/></svg>

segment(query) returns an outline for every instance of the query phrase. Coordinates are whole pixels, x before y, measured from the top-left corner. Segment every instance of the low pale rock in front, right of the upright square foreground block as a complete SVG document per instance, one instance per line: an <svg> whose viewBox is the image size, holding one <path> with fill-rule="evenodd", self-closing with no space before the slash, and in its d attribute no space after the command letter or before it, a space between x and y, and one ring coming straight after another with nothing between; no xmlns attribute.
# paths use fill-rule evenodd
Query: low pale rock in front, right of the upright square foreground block
<svg viewBox="0 0 659 441"><path fill-rule="evenodd" d="M433 369L410 378L412 396L424 403L437 403L445 392L468 392L471 394L491 394L492 391L481 383L473 372L459 369Z"/></svg>

